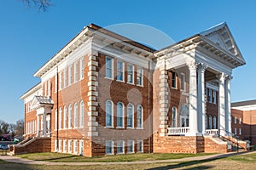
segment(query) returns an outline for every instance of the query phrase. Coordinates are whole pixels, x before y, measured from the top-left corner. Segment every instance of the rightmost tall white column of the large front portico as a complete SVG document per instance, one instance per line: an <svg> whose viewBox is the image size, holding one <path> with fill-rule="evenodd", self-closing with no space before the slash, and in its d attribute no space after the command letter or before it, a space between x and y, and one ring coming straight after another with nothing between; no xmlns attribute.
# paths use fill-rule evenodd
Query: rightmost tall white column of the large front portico
<svg viewBox="0 0 256 170"><path fill-rule="evenodd" d="M231 121L232 121L232 117L231 117L231 107L230 107L230 81L231 81L232 77L228 76L226 77L225 80L225 118L226 118L226 130L229 133L232 133L232 129L231 129Z"/></svg>

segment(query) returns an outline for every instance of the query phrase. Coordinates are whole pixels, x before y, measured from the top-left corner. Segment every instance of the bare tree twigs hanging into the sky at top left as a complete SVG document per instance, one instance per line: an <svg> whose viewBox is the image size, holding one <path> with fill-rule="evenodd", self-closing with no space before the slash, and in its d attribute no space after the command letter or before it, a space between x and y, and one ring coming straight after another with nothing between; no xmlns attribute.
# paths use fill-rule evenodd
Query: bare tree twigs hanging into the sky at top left
<svg viewBox="0 0 256 170"><path fill-rule="evenodd" d="M47 11L49 6L52 6L53 3L50 0L22 0L28 7L38 8L38 10Z"/></svg>

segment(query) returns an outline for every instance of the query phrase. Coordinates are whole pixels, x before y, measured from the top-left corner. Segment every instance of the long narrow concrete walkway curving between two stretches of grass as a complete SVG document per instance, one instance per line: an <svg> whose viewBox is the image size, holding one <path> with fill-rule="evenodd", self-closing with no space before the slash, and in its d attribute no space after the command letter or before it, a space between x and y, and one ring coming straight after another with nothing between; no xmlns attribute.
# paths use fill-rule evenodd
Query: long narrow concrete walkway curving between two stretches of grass
<svg viewBox="0 0 256 170"><path fill-rule="evenodd" d="M255 151L241 151L225 153L225 154L214 154L209 156L195 156L195 157L186 157L181 159L172 159L172 160L155 160L155 161L114 161L114 162L52 162L52 161L33 161L27 160L16 156L0 156L0 160L22 163L22 164L34 164L34 165L118 165L118 164L148 164L148 163L160 163L160 162L177 162L177 161L202 161L202 160L212 160L218 158L224 158L228 156L236 155L246 155L256 153Z"/></svg>

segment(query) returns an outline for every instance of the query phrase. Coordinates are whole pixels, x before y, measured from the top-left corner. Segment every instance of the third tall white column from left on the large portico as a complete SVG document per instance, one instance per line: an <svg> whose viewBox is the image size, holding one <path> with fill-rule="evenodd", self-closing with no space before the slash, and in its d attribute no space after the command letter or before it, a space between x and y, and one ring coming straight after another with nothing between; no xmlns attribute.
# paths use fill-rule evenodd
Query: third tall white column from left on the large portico
<svg viewBox="0 0 256 170"><path fill-rule="evenodd" d="M218 75L218 129L220 135L225 135L225 75L221 73Z"/></svg>

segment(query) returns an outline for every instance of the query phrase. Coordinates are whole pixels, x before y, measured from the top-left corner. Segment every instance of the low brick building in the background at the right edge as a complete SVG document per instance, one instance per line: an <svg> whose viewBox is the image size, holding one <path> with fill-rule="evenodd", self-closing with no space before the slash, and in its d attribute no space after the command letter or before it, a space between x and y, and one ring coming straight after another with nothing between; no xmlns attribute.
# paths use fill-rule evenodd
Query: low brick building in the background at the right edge
<svg viewBox="0 0 256 170"><path fill-rule="evenodd" d="M232 133L256 145L256 100L231 103Z"/></svg>

